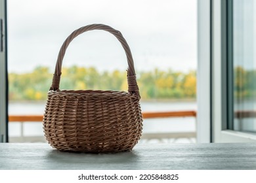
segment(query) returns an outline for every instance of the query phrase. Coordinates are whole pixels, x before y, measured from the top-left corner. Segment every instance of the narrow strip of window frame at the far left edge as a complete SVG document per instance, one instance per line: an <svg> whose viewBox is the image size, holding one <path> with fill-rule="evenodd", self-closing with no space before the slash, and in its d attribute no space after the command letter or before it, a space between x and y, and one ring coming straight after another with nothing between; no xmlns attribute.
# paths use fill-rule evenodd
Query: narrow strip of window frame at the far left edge
<svg viewBox="0 0 256 183"><path fill-rule="evenodd" d="M8 142L7 0L0 0L0 142ZM1 23L0 22L0 23Z"/></svg>

